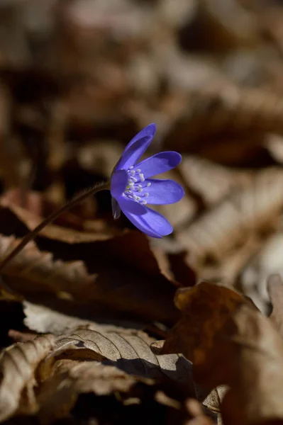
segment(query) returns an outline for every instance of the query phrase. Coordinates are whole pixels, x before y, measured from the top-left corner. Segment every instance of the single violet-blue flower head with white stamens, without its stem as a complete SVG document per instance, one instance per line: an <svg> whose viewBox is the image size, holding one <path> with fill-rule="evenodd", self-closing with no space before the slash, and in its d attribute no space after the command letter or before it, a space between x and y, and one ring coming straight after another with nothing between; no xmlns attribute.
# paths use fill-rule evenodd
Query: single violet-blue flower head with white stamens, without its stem
<svg viewBox="0 0 283 425"><path fill-rule="evenodd" d="M151 237L161 238L172 233L172 225L146 205L178 202L184 196L184 189L173 180L151 179L181 162L177 152L160 152L138 162L155 130L155 124L150 124L128 143L111 176L111 196L114 218L118 218L122 210L135 227Z"/></svg>

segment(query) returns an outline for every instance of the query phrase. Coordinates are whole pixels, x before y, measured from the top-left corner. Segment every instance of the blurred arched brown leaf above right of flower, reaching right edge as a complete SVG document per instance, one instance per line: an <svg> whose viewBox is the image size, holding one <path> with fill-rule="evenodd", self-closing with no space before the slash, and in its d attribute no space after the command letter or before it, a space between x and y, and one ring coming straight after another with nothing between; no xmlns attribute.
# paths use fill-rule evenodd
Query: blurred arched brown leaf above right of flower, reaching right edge
<svg viewBox="0 0 283 425"><path fill-rule="evenodd" d="M240 159L243 164L245 157L254 162L255 149L263 144L259 135L283 130L282 98L262 89L209 85L189 94L187 104L167 135L166 147L214 160L216 149L221 162L237 164Z"/></svg>

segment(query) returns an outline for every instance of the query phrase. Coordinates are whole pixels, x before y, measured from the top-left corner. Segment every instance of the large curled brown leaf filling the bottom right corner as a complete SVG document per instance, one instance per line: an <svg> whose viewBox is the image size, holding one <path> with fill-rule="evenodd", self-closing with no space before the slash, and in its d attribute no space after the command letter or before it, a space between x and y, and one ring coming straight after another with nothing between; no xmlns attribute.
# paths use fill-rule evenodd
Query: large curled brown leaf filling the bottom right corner
<svg viewBox="0 0 283 425"><path fill-rule="evenodd" d="M283 420L283 341L270 319L239 294L208 283L180 290L177 304L183 317L162 352L190 358L201 385L228 385L224 424Z"/></svg>

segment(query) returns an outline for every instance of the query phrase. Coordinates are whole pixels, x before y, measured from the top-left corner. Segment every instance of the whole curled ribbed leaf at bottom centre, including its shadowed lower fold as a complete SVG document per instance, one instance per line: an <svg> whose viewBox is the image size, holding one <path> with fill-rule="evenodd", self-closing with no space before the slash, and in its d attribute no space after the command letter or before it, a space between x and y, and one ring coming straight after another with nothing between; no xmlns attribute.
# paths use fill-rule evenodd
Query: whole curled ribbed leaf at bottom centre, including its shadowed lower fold
<svg viewBox="0 0 283 425"><path fill-rule="evenodd" d="M138 382L196 397L191 364L182 356L155 356L150 349L154 340L142 331L98 329L79 328L58 337L38 370L42 380L47 377L38 392L40 416L66 414L80 393L128 393Z"/></svg>

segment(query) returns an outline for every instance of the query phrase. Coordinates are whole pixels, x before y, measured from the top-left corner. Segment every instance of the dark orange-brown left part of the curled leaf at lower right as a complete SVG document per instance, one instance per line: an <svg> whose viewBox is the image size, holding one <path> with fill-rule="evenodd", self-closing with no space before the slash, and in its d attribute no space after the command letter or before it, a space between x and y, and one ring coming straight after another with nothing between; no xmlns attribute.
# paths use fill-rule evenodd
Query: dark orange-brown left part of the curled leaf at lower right
<svg viewBox="0 0 283 425"><path fill-rule="evenodd" d="M240 305L252 305L234 290L206 282L177 290L174 302L182 317L170 330L161 353L183 353L194 365L207 361L204 353L231 313Z"/></svg>

